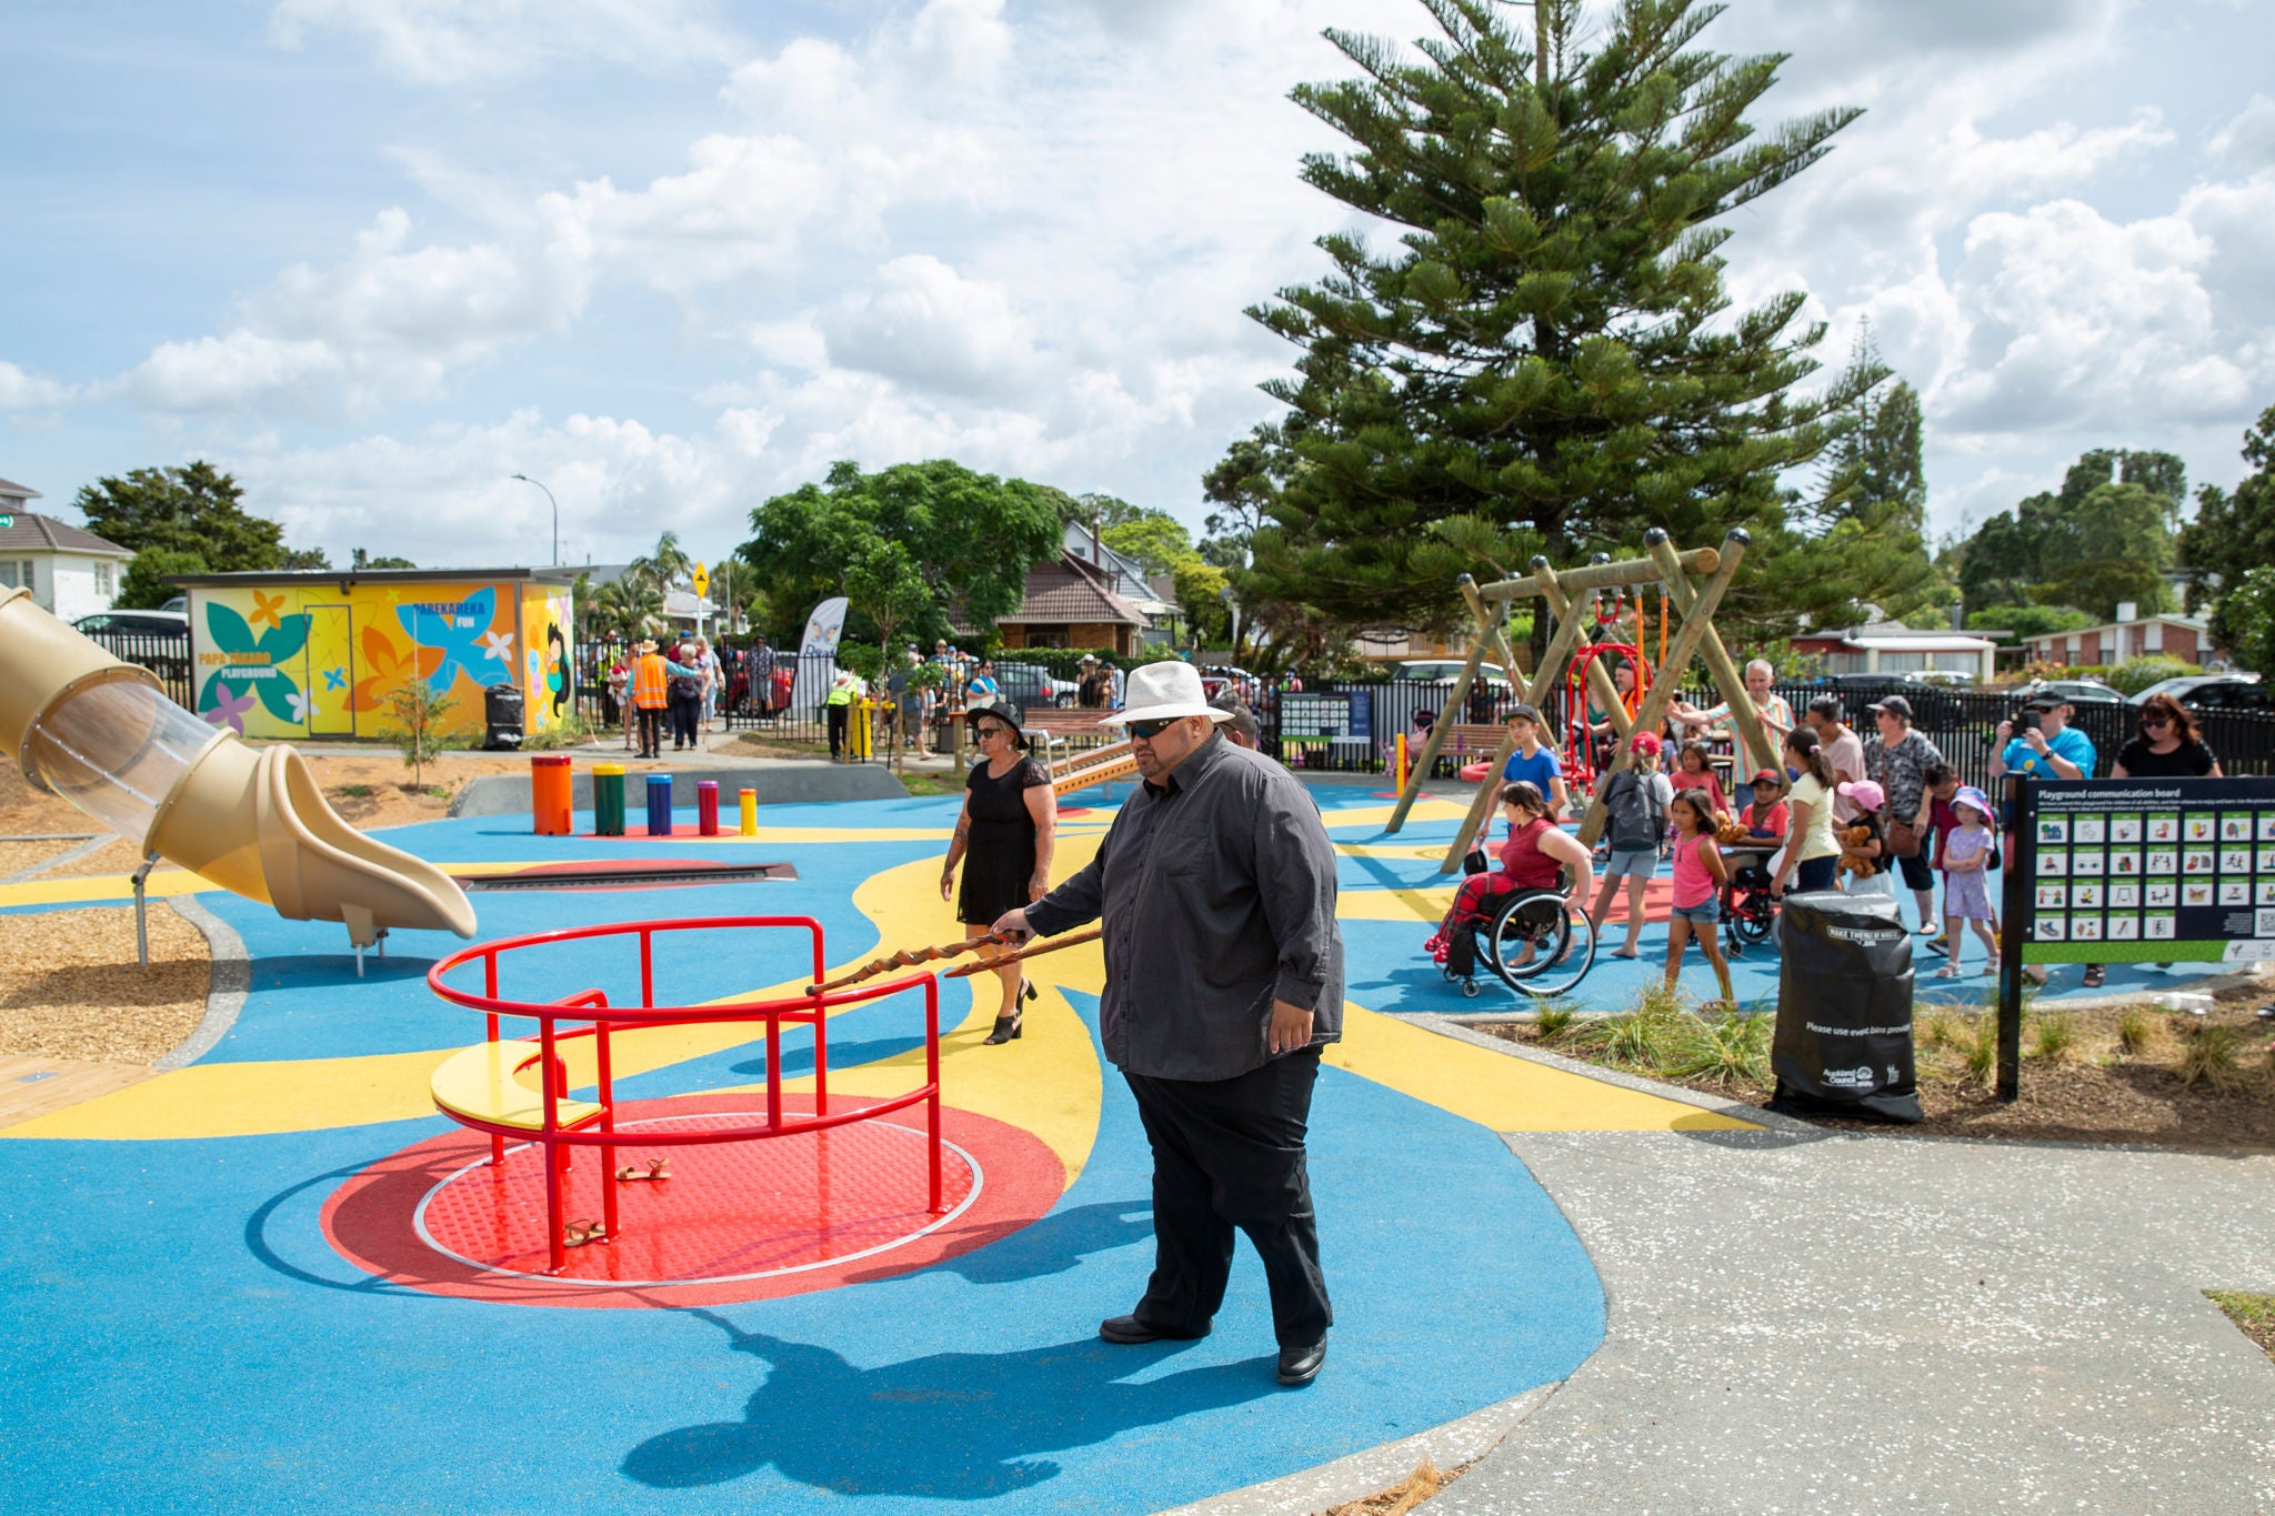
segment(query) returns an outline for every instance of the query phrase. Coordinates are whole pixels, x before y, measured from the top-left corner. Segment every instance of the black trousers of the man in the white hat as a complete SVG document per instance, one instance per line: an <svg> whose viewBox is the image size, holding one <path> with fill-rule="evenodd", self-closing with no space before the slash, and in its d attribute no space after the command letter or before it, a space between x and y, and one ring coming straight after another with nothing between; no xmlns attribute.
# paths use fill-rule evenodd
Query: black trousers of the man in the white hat
<svg viewBox="0 0 2275 1516"><path fill-rule="evenodd" d="M1240 1227L1265 1261L1279 1343L1308 1348L1326 1336L1335 1311L1304 1164L1320 1050L1276 1057L1235 1080L1122 1077L1153 1143L1153 1277L1138 1321L1156 1332L1206 1332L1224 1305Z"/></svg>

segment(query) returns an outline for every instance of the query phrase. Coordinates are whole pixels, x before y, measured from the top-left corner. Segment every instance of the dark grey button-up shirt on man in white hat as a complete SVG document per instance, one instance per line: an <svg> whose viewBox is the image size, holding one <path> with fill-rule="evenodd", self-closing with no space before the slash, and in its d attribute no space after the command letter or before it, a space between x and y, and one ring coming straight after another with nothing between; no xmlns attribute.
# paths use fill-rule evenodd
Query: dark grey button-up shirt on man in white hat
<svg viewBox="0 0 2275 1516"><path fill-rule="evenodd" d="M1272 1002L1342 1039L1335 850L1272 759L1210 736L1140 784L1087 868L1026 907L1053 936L1106 921L1106 1057L1156 1080L1233 1080L1272 1059Z"/></svg>

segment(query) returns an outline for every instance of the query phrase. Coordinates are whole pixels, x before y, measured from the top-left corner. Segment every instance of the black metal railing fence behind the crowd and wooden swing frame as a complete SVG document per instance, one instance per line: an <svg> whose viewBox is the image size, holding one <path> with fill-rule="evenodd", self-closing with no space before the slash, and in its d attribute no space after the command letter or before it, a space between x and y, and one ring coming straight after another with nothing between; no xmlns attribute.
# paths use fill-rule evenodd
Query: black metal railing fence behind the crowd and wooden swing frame
<svg viewBox="0 0 2275 1516"><path fill-rule="evenodd" d="M1461 709L1447 714L1451 682L1413 680L1333 680L1308 684L1304 693L1265 691L1258 702L1258 723L1269 750L1290 768L1322 773L1385 773L1392 764L1392 745L1399 732L1408 734L1408 750L1420 755L1426 727L1415 716L1426 711L1436 720L1495 723L1504 720L1517 693L1506 686L1479 684ZM1811 700L1829 695L1822 684L1777 684L1800 716ZM1866 709L1877 695L1838 695L1843 720L1859 730L1866 741L1877 741L1872 714ZM1966 784L1991 784L1991 759L1997 755L1997 725L2020 714L2018 693L1997 691L1950 691L1906 689L1904 698L1913 707L1913 725L1943 752L1943 759ZM1688 689L1684 700L1697 707L1715 707L1722 695L1711 689ZM1556 732L1570 730L1570 700L1565 689L1542 702L1542 714ZM2093 739L2095 773L2107 775L2118 750L2138 732L2138 711L2132 705L2075 705L2070 720ZM2275 711L2200 711L2198 727L2204 743L2218 755L2220 768L2230 775L2275 773ZM1556 743L1558 750L1563 743ZM1431 777L1454 777L1454 759L1438 759Z"/></svg>

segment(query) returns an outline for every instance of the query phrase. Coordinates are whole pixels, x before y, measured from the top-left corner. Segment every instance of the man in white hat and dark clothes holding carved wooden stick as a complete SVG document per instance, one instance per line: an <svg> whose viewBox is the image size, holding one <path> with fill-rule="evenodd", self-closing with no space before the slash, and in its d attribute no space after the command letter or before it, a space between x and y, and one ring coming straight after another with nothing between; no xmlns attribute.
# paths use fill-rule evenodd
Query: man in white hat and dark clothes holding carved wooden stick
<svg viewBox="0 0 2275 1516"><path fill-rule="evenodd" d="M1333 1309L1304 1136L1320 1048L1342 1036L1335 850L1285 768L1217 734L1190 664L1128 675L1144 784L1097 859L996 932L1106 923L1099 1032L1153 1143L1153 1277L1110 1343L1208 1336L1249 1234L1272 1286L1281 1384L1310 1384Z"/></svg>

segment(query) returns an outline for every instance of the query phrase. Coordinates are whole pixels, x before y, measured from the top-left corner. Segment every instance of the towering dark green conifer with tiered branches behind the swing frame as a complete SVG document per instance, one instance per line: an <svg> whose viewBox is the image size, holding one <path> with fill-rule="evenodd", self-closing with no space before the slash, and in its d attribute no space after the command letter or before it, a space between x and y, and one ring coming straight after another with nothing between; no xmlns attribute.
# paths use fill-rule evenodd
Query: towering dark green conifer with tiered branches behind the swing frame
<svg viewBox="0 0 2275 1516"><path fill-rule="evenodd" d="M1242 595L1340 625L1429 625L1461 570L1633 552L1647 527L1761 552L1727 614L1790 623L1779 477L1868 384L1818 393L1804 295L1731 311L1729 214L1815 164L1852 109L1763 130L1779 57L1693 48L1720 7L1424 0L1420 57L1329 32L1360 77L1294 100L1342 132L1304 180L1399 227L1320 239L1333 275L1251 316L1304 350ZM1718 225L1720 223L1720 225ZM1877 375L1875 375L1877 380ZM1256 477L1256 470L1247 470Z"/></svg>

